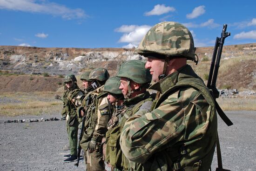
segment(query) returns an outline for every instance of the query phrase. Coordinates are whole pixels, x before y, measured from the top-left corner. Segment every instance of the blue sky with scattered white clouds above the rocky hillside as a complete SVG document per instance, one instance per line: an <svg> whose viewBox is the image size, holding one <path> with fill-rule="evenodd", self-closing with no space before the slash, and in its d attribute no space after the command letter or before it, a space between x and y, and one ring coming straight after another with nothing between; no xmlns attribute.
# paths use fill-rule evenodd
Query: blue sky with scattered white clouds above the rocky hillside
<svg viewBox="0 0 256 171"><path fill-rule="evenodd" d="M195 46L256 42L256 0L0 0L0 45L37 47L138 46L151 26L184 24Z"/></svg>

